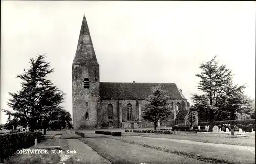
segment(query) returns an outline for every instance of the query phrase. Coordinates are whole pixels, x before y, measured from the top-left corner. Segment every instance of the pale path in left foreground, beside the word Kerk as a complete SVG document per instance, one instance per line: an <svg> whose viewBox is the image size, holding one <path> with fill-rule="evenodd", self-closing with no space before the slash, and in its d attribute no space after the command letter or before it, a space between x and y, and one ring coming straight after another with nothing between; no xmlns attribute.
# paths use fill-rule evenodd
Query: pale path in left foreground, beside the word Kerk
<svg viewBox="0 0 256 164"><path fill-rule="evenodd" d="M67 139L69 149L76 150L76 154L72 154L72 158L81 163L102 163L110 164L108 160L100 156L92 150L88 145L81 142L79 139Z"/></svg>

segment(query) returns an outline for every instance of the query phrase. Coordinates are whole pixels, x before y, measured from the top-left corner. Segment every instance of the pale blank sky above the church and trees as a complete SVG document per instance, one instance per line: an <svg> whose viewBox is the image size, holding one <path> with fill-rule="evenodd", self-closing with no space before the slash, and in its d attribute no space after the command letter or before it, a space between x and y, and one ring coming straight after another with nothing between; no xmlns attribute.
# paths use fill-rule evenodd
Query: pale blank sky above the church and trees
<svg viewBox="0 0 256 164"><path fill-rule="evenodd" d="M103 82L176 83L188 101L199 64L214 55L255 98L254 1L1 1L1 108L29 58L47 53L49 75L72 115L71 66L86 13ZM2 123L7 116L1 114Z"/></svg>

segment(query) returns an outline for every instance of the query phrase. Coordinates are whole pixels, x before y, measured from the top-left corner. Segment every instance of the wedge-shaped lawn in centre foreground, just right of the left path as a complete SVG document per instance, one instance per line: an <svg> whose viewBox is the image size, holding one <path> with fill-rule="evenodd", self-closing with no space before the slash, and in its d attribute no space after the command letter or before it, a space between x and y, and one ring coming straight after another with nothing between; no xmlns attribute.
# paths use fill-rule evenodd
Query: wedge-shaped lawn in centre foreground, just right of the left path
<svg viewBox="0 0 256 164"><path fill-rule="evenodd" d="M205 163L196 159L191 159L176 154L169 154L166 152L141 147L110 138L82 138L80 140L114 164Z"/></svg>

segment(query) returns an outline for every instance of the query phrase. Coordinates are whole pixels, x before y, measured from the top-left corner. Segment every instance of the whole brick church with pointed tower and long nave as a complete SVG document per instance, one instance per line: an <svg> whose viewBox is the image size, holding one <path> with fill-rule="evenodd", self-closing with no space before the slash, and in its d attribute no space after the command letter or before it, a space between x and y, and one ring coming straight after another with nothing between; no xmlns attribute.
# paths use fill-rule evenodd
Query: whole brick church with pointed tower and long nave
<svg viewBox="0 0 256 164"><path fill-rule="evenodd" d="M170 95L174 109L158 127L186 125L189 103L175 83L100 82L99 63L83 16L72 64L73 129L154 127L143 120L141 109L151 87L158 85Z"/></svg>

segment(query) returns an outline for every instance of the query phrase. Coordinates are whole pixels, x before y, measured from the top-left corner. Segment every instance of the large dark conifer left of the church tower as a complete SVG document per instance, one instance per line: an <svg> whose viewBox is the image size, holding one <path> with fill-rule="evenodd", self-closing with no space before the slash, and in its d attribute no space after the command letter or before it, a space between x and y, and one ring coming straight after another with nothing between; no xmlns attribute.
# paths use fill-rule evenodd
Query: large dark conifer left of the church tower
<svg viewBox="0 0 256 164"><path fill-rule="evenodd" d="M9 93L8 106L14 112L4 110L7 114L19 118L23 126L30 126L30 130L48 127L51 114L63 107L60 105L64 93L46 77L53 72L50 63L45 61L45 55L38 55L30 59L30 67L17 77L22 80L22 89L17 93Z"/></svg>

